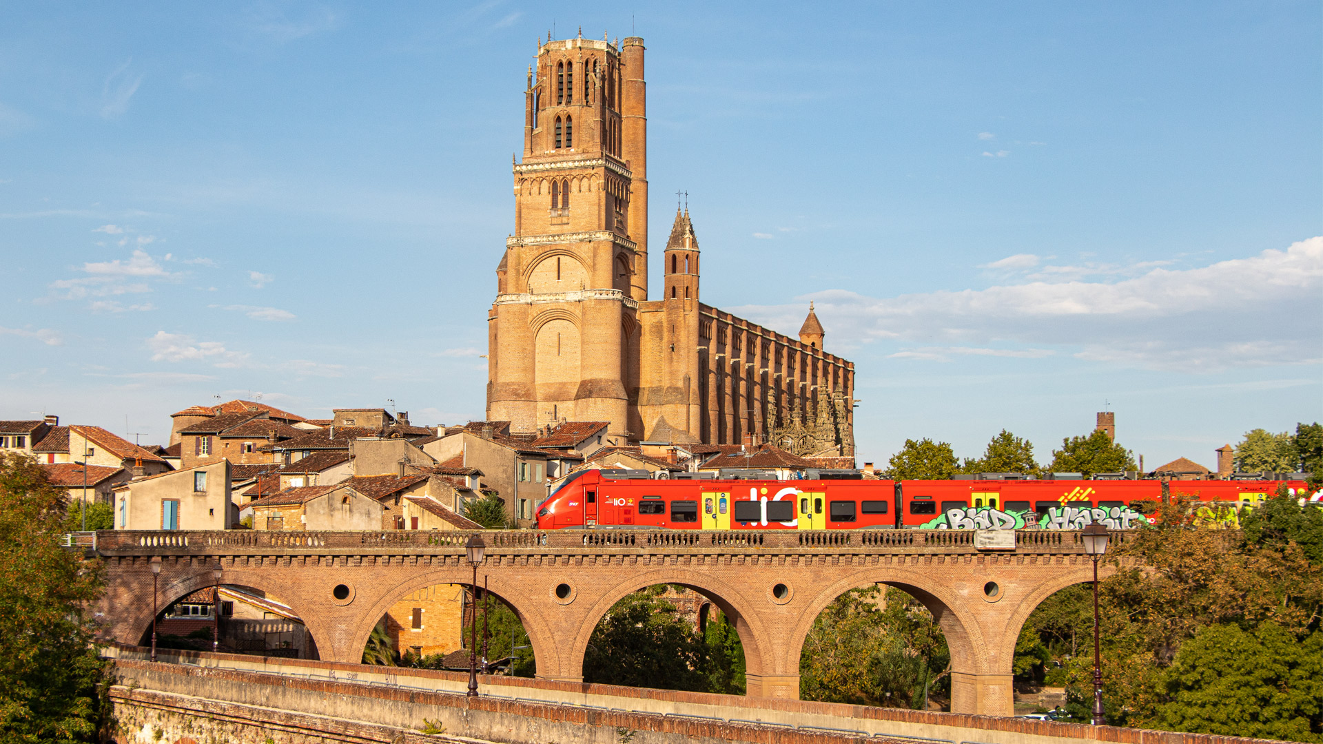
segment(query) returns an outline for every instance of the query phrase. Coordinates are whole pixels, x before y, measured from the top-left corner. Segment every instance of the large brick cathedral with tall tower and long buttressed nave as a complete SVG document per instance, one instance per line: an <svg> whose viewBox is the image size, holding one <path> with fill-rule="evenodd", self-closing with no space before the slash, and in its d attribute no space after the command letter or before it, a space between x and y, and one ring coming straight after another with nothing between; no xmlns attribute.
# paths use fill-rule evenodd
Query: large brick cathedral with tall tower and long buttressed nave
<svg viewBox="0 0 1323 744"><path fill-rule="evenodd" d="M614 443L774 443L855 454L855 365L814 314L791 339L704 304L676 209L648 298L643 40L538 41L515 232L488 314L487 418L534 432L606 421Z"/></svg>

